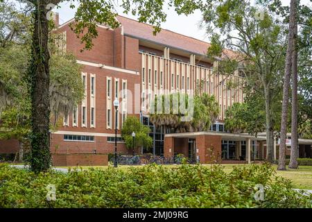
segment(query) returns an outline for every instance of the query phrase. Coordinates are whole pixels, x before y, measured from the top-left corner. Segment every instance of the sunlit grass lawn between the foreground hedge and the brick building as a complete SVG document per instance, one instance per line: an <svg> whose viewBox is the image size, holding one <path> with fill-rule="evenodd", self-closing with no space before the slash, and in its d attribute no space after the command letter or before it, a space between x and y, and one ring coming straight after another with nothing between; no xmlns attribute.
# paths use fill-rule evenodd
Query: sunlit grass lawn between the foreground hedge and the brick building
<svg viewBox="0 0 312 222"><path fill-rule="evenodd" d="M223 164L225 171L232 171L234 166L238 164ZM209 167L210 165L205 165ZM143 167L143 166L135 166L135 167ZM177 167L177 165L165 165L164 167ZM274 166L277 169L277 166ZM67 169L68 167L58 167ZM71 169L75 169L73 167ZM81 167L82 169L90 169L90 168L99 168L99 169L107 169L107 167ZM119 166L120 169L129 169L129 166ZM291 179L293 181L294 187L297 189L311 189L312 190L312 166L300 166L299 169L287 169L287 171L277 171L277 176L282 176L284 178Z"/></svg>

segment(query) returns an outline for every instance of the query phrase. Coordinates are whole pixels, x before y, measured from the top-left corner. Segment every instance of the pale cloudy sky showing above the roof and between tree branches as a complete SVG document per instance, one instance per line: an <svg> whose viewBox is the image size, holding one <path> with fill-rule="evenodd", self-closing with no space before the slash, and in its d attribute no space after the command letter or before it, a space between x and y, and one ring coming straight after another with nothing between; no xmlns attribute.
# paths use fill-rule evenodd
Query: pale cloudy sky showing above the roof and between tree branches
<svg viewBox="0 0 312 222"><path fill-rule="evenodd" d="M283 4L288 6L291 0L283 0ZM119 2L121 2L119 0ZM310 0L302 0L301 3L310 3ZM65 1L60 4L60 8L55 9L56 12L60 13L60 24L69 21L75 15L76 10L69 8L70 2ZM311 3L310 3L311 5ZM132 15L125 15L122 13L121 8L116 8L119 15L125 17L130 17L132 19L137 19ZM203 40L209 42L208 36L203 28L199 28L200 21L202 19L199 10L196 10L192 15L188 17L185 15L177 15L173 8L166 10L167 19L166 22L162 24L162 28L168 29L175 33L180 33L182 35L187 35L190 37L195 37L198 40Z"/></svg>

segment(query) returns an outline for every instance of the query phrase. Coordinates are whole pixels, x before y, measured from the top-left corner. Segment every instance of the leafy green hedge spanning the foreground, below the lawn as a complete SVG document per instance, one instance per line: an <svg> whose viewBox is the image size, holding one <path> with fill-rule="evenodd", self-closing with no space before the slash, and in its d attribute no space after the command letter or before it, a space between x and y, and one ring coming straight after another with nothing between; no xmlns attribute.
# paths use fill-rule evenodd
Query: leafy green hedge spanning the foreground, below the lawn
<svg viewBox="0 0 312 222"><path fill-rule="evenodd" d="M255 185L265 188L254 199ZM55 185L56 200L46 200ZM291 189L268 164L223 167L182 164L35 174L0 164L0 207L311 207L312 196Z"/></svg>

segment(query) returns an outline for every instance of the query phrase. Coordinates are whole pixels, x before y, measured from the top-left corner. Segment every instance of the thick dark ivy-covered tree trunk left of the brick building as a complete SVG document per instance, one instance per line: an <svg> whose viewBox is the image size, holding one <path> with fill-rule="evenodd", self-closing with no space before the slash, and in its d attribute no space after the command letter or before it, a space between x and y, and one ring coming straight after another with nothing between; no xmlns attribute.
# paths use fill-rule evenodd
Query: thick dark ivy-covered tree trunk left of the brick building
<svg viewBox="0 0 312 222"><path fill-rule="evenodd" d="M46 18L46 1L35 1L33 12L34 28L32 39L32 60L28 69L31 78L32 135L31 169L40 172L50 167L50 98L49 98L49 60L48 49L49 21Z"/></svg>

